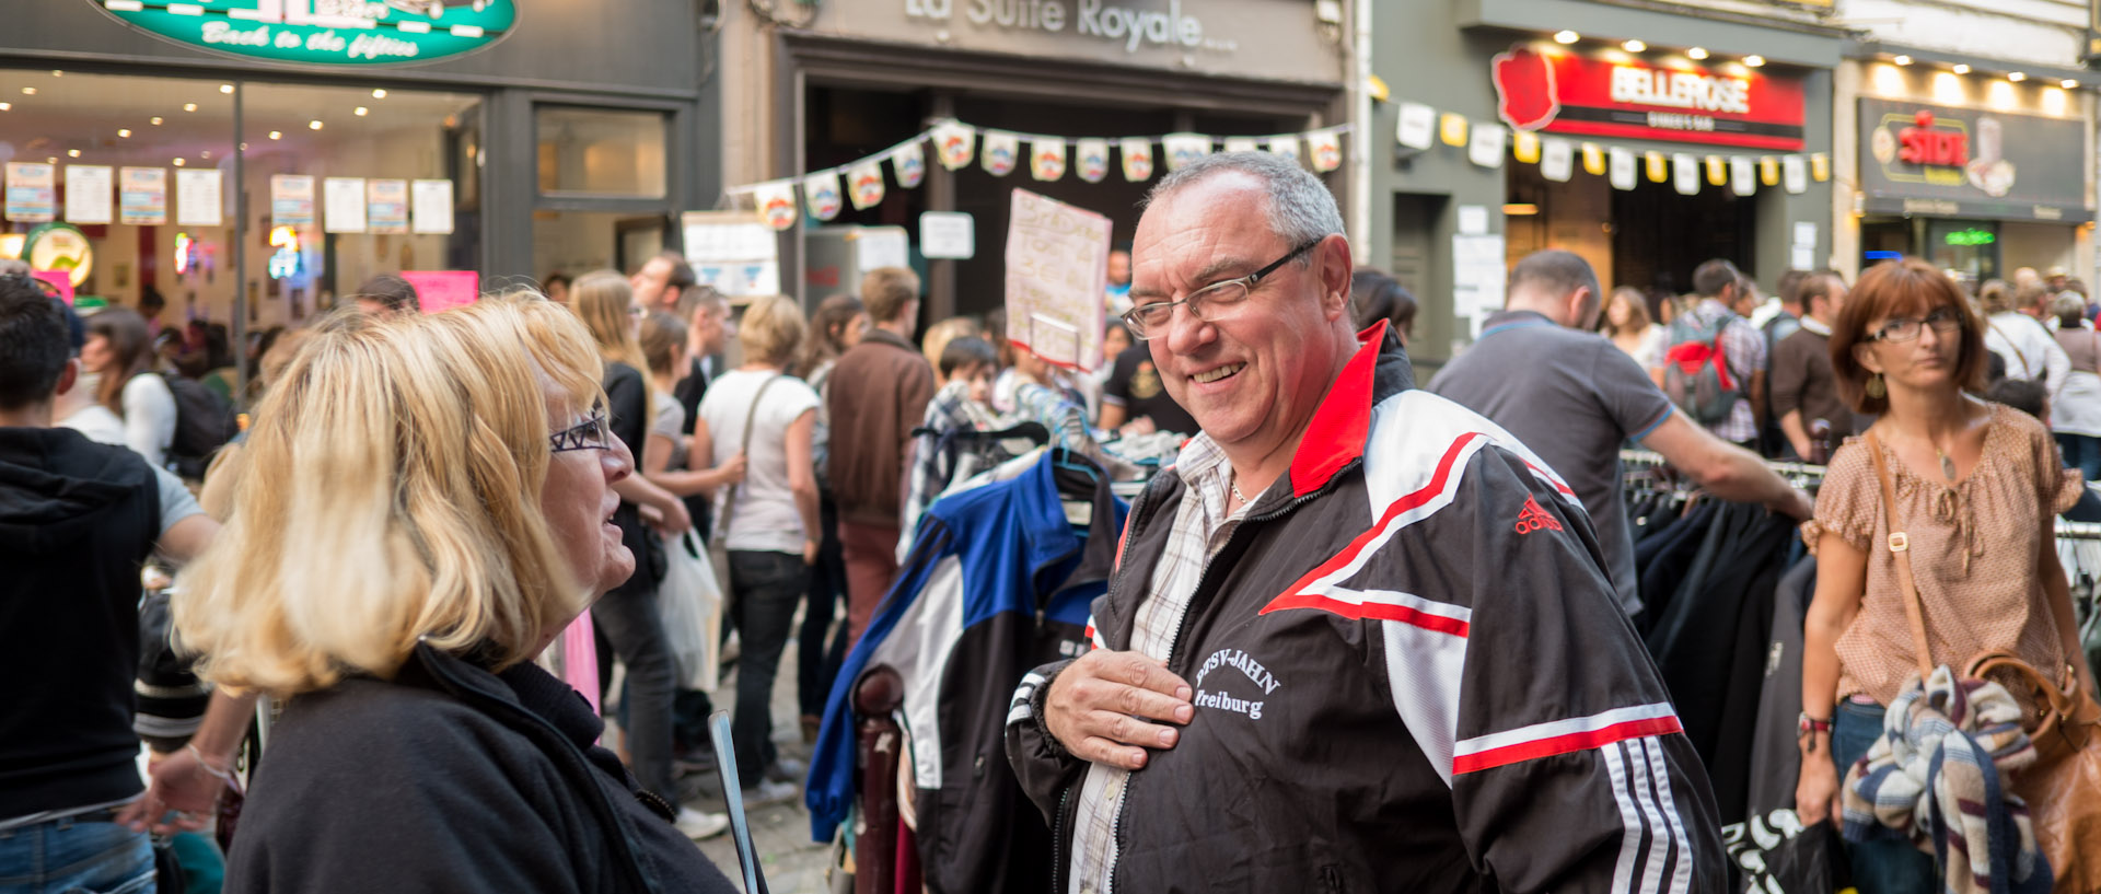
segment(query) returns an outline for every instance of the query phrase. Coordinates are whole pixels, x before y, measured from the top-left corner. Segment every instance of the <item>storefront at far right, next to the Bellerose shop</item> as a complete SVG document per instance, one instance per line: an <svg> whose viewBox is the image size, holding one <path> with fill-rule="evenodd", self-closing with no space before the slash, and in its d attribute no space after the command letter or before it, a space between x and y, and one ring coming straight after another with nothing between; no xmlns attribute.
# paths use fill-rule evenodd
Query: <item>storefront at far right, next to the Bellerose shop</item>
<svg viewBox="0 0 2101 894"><path fill-rule="evenodd" d="M1864 59L1840 80L1857 139L1857 191L1838 199L1847 267L1918 256L1971 285L2021 267L2090 283L2093 99L2078 78L1893 57L1906 65Z"/></svg>

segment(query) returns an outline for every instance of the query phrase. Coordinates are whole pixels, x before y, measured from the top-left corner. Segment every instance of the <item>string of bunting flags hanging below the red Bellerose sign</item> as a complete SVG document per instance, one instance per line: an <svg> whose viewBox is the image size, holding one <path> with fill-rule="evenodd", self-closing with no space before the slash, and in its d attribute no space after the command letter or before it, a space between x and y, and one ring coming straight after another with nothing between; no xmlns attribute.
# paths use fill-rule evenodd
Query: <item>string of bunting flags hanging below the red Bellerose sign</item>
<svg viewBox="0 0 2101 894"><path fill-rule="evenodd" d="M1809 191L1809 180L1832 178L1830 153L1767 153L1767 155L1696 155L1628 149L1618 145L1540 136L1513 130L1500 122L1475 122L1458 111L1437 111L1422 103L1399 103L1395 141L1408 149L1429 151L1448 145L1466 149L1466 159L1481 168L1502 168L1504 157L1540 166L1540 176L1567 183L1576 159L1593 176L1607 176L1614 189L1635 189L1641 176L1649 183L1670 183L1683 195L1706 187L1727 187L1735 195L1752 195L1759 187L1784 187L1790 193Z"/></svg>

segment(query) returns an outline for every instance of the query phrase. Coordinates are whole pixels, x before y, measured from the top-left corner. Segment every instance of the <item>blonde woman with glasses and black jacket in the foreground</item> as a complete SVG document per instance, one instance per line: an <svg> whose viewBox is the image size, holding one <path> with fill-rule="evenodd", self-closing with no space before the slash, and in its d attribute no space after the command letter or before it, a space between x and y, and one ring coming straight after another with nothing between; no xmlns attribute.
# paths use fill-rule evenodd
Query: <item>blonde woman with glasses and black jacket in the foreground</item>
<svg viewBox="0 0 2101 894"><path fill-rule="evenodd" d="M174 600L200 674L286 701L227 892L729 892L529 659L635 569L632 457L550 302L336 315L265 397Z"/></svg>

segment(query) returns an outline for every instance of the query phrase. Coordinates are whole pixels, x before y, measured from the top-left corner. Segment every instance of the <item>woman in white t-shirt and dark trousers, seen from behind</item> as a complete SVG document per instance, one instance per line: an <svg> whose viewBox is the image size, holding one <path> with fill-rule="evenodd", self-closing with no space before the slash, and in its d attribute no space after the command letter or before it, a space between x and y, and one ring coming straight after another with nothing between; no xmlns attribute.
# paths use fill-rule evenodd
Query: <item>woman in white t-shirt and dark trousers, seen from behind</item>
<svg viewBox="0 0 2101 894"><path fill-rule="evenodd" d="M788 376L803 329L803 311L792 300L754 300L737 323L744 365L708 384L700 401L706 426L693 426L693 455L716 466L740 451L746 460L744 483L719 497L714 518L729 550L729 621L742 640L731 741L737 776L761 797L769 785L794 781L775 766L769 705L819 537L811 462L817 392Z"/></svg>

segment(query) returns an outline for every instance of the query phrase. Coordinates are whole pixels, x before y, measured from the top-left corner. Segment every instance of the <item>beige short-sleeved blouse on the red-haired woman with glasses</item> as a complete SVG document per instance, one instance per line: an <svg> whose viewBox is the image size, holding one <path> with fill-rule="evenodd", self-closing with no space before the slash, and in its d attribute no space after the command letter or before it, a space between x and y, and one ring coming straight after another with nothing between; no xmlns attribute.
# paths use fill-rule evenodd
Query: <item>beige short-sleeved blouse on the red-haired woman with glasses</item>
<svg viewBox="0 0 2101 894"><path fill-rule="evenodd" d="M1897 491L1897 525L1912 544L1933 663L1960 672L1977 653L2006 651L2044 674L2063 667L2063 640L2036 577L2036 556L2044 520L2078 502L2082 481L2061 468L2051 430L1994 405L1983 460L1958 485L1912 474L1887 443L1882 457ZM1824 533L1868 554L1868 592L1838 636L1838 699L1859 693L1889 705L1918 663L1889 552L1882 487L1861 439L1847 439L1832 455L1817 514L1803 523L1809 552Z"/></svg>

